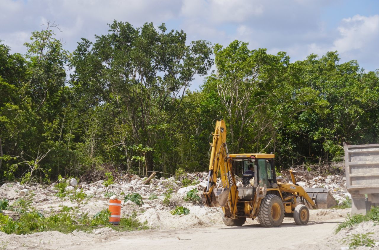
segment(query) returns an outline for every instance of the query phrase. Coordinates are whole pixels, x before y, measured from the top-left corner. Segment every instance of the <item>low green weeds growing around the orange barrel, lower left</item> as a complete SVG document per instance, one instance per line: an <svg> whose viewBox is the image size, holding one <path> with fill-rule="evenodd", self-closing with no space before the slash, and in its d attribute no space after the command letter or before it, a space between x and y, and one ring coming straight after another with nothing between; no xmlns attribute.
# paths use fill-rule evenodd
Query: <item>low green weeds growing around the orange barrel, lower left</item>
<svg viewBox="0 0 379 250"><path fill-rule="evenodd" d="M136 213L131 216L121 218L119 226L109 223L110 211L108 209L99 211L94 216L84 213L81 209L86 195L80 191L66 191L64 185L57 184L58 196L62 203L64 197L69 197L72 202L76 202L76 207L61 206L58 213L44 214L31 206L34 194L17 199L11 206L2 199L2 207L13 211L12 217L0 212L0 231L7 234L28 234L41 231L59 231L61 233L71 233L74 230L92 231L95 228L111 227L117 231L132 231L147 229L146 223L141 223L136 217ZM142 200L141 200L142 201ZM4 209L3 209L4 210Z"/></svg>

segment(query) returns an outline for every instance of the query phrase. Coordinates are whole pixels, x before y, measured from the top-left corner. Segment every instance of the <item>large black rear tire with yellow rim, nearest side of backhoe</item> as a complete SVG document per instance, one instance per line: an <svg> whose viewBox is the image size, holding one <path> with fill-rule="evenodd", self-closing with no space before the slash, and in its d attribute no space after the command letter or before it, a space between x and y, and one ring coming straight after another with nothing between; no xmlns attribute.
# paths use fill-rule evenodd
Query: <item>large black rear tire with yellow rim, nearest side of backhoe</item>
<svg viewBox="0 0 379 250"><path fill-rule="evenodd" d="M257 221L263 227L279 227L284 219L283 201L275 194L268 194L262 199Z"/></svg>

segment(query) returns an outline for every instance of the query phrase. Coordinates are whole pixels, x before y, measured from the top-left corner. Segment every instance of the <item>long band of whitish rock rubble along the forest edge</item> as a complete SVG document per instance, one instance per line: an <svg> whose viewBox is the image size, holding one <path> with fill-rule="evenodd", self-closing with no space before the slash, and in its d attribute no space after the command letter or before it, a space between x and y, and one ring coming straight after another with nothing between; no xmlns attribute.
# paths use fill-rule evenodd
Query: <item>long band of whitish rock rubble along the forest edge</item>
<svg viewBox="0 0 379 250"><path fill-rule="evenodd" d="M344 176L340 175L328 175L327 177L317 176L310 180L305 180L301 175L297 180L300 186L305 188L326 188L331 191L337 202L342 203L345 201L346 196L350 197L350 194L346 191L346 179ZM304 179L304 180L302 180ZM130 214L132 211L143 211L150 208L161 211L170 211L176 206L196 205L203 207L201 203L188 202L183 200L185 194L192 190L197 189L199 191L198 195L202 193L204 188L207 186L208 173L199 172L195 174L186 174L181 177L170 177L168 179L161 177L159 179L152 178L149 182L145 179L141 179L137 175L125 175L119 182L106 186L103 180L99 180L93 183L80 182L78 183L76 179L72 178L70 180L61 179L60 182L66 182L68 191L80 191L82 190L88 197L88 204L84 206L84 209L88 209L89 213L96 213L99 209L104 209L107 207L107 200L110 197L115 198L116 196L122 201L123 213ZM236 181L240 183L240 180L236 178ZM284 176L284 182L291 183L290 178ZM189 186L183 183L192 184ZM218 183L220 184L220 183ZM19 190L33 191L35 194L34 204L45 209L52 211L52 207L55 206L55 210L59 209L59 200L55 196L58 190L55 188L55 184L44 186L44 185L20 185L20 183L5 183L2 188L0 188L0 196L9 200L15 200L18 194L21 192ZM141 207L136 205L134 202L127 200L124 202L124 197L127 194L138 193L143 199L143 204ZM149 199L150 198L150 199ZM166 199L166 200L165 200ZM167 199L169 202L167 202ZM45 205L43 202L47 201ZM164 202L165 201L165 202ZM68 200L65 201L65 205L75 206L74 203L69 203ZM49 209L47 209L49 208ZM207 211L211 213L219 212L219 208L207 208Z"/></svg>

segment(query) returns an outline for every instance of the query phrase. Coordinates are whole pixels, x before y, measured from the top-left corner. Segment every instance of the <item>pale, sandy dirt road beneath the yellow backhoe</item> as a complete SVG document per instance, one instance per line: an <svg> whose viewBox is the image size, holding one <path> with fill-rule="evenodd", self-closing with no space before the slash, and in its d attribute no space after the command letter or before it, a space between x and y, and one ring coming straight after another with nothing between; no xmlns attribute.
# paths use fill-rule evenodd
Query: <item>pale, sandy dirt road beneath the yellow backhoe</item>
<svg viewBox="0 0 379 250"><path fill-rule="evenodd" d="M342 218L298 226L286 219L281 227L263 228L258 224L243 227L206 227L185 230L140 231L115 241L80 249L336 249L336 242L328 242ZM338 242L337 242L338 243ZM329 246L328 246L329 245Z"/></svg>

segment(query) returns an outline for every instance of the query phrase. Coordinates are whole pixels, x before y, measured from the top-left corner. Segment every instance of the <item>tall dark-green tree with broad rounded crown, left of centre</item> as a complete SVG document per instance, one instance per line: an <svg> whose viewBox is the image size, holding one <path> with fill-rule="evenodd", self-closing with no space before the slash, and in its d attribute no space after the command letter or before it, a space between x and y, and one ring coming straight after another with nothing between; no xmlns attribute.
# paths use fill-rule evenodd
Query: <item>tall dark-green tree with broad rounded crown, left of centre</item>
<svg viewBox="0 0 379 250"><path fill-rule="evenodd" d="M97 36L95 43L79 43L72 84L92 106L110 104L119 126L130 126L133 144L152 148L155 132L147 128L170 119L194 76L211 67L208 42L185 42L183 31L166 32L164 24L157 31L152 23L133 28L114 21L110 33ZM152 153L145 154L148 172Z"/></svg>

